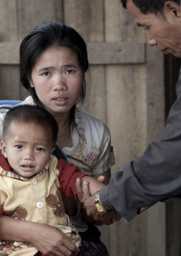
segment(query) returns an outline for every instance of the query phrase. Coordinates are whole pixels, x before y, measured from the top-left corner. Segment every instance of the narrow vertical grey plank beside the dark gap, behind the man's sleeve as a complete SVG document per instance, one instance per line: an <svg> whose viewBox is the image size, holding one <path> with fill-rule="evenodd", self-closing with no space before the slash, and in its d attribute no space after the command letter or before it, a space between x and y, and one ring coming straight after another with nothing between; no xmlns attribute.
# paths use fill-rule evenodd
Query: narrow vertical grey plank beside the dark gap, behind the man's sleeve
<svg viewBox="0 0 181 256"><path fill-rule="evenodd" d="M165 127L164 54L146 46L147 143L159 139ZM155 235L156 234L156 235ZM147 255L166 256L166 209L158 203L148 211Z"/></svg>

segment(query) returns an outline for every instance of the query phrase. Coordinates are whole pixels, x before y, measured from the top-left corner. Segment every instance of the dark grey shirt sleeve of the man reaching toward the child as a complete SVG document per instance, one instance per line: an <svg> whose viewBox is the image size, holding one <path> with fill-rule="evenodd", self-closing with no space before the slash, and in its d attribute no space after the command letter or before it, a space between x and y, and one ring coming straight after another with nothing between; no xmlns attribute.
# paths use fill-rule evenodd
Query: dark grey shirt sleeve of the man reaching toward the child
<svg viewBox="0 0 181 256"><path fill-rule="evenodd" d="M100 190L102 203L128 221L141 207L181 193L181 73L176 92L161 139L151 142L142 157L114 173Z"/></svg>

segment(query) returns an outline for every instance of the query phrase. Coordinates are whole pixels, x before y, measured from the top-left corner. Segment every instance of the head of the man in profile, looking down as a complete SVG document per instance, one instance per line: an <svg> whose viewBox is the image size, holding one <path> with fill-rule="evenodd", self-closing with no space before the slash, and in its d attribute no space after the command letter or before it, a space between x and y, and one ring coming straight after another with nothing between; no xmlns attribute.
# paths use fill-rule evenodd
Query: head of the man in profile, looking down
<svg viewBox="0 0 181 256"><path fill-rule="evenodd" d="M145 29L147 42L165 54L181 57L180 0L121 0L138 26Z"/></svg>

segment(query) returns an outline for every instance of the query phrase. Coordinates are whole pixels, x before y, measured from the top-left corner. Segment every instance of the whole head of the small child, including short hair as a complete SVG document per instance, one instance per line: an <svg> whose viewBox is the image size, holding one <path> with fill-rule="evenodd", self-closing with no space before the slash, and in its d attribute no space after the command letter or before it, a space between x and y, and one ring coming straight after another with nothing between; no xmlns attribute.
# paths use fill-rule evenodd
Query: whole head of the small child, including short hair
<svg viewBox="0 0 181 256"><path fill-rule="evenodd" d="M2 154L14 173L31 178L45 168L55 149L57 134L57 122L46 109L14 107L4 118Z"/></svg>

